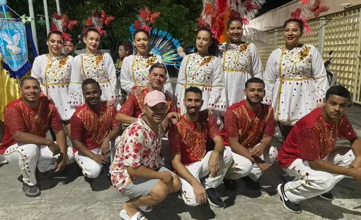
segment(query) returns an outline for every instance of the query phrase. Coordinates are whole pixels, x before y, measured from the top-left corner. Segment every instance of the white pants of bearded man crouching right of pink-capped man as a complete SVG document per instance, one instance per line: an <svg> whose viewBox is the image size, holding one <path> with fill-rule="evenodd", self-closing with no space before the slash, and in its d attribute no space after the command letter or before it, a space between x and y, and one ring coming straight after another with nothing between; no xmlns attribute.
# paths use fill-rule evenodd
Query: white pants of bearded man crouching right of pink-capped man
<svg viewBox="0 0 361 220"><path fill-rule="evenodd" d="M187 167L189 172L193 175L193 177L197 178L197 180L206 177L205 180L202 182L202 185L205 187L205 189L216 188L219 185L221 185L223 177L233 161L232 154L229 151L224 150L222 154L219 154L218 176L211 177L210 170L207 170L211 153L212 151L208 152L202 160L196 163L192 163L191 165L185 166ZM190 185L189 182L183 180L182 178L181 178L181 182L182 182L182 197L185 204L188 204L189 206L197 206L198 204L197 202L195 202L195 194L193 192L192 185Z"/></svg>

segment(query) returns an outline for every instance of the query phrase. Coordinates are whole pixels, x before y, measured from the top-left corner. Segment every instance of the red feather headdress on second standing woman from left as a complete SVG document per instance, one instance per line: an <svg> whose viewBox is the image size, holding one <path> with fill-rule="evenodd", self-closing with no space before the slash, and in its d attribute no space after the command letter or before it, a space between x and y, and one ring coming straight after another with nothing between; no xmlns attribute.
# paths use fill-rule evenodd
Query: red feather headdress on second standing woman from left
<svg viewBox="0 0 361 220"><path fill-rule="evenodd" d="M114 20L114 16L107 15L104 10L101 10L100 15L98 11L93 11L93 15L88 17L88 19L85 21L85 25L88 28L96 28L100 35L105 35L107 32L103 31L103 25L109 26L110 22ZM83 35L88 28L84 29Z"/></svg>

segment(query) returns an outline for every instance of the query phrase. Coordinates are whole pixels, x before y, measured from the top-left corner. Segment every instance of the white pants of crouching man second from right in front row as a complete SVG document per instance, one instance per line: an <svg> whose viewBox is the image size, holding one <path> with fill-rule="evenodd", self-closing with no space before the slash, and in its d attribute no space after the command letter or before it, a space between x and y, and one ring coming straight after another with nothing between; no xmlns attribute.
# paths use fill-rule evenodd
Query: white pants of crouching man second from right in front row
<svg viewBox="0 0 361 220"><path fill-rule="evenodd" d="M246 177L249 175L252 180L258 180L262 175L263 172L260 170L260 167L256 163L252 163L251 160L239 155L238 153L234 153L231 150L231 147L226 146L226 150L232 153L233 155L233 163L225 178L228 180L238 180L241 177ZM249 150L252 150L250 148ZM260 159L265 161L266 163L272 165L277 160L278 151L274 147L265 148L263 154L260 155Z"/></svg>

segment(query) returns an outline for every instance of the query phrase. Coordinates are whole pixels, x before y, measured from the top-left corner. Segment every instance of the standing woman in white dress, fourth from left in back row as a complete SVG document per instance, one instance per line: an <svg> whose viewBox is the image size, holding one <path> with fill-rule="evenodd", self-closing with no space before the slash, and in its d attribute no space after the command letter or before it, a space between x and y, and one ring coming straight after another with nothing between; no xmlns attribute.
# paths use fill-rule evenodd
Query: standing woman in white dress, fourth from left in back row
<svg viewBox="0 0 361 220"><path fill-rule="evenodd" d="M197 52L186 55L181 63L176 86L176 105L178 113L185 114L183 104L185 89L198 87L202 90L204 103L202 110L209 109L225 111L224 74L222 63L217 55L217 41L213 38L210 28L202 27L197 30L195 40Z"/></svg>

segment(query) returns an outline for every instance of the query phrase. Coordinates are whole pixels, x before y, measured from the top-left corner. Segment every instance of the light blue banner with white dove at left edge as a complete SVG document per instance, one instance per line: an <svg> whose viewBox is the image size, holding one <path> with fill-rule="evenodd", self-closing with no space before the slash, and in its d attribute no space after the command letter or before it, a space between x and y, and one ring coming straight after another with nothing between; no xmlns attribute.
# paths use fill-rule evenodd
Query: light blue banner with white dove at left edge
<svg viewBox="0 0 361 220"><path fill-rule="evenodd" d="M0 53L3 62L13 72L21 69L28 62L28 45L24 23L0 21Z"/></svg>

